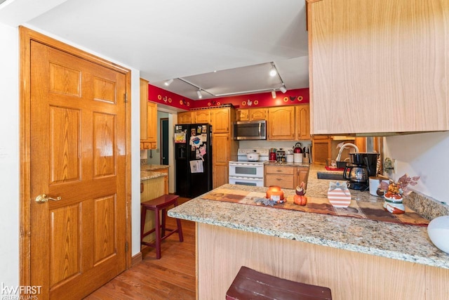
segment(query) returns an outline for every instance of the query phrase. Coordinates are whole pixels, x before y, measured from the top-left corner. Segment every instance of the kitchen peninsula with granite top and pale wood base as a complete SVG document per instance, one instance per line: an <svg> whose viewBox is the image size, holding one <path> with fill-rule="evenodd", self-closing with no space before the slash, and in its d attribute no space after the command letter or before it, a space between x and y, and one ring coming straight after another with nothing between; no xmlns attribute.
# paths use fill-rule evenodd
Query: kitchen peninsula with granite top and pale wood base
<svg viewBox="0 0 449 300"><path fill-rule="evenodd" d="M309 199L326 197L329 181L316 177L321 169L311 166ZM220 188L266 191L244 185ZM295 193L283 191L285 197ZM355 190L351 195L357 201L382 201ZM197 223L198 299L223 298L241 266L329 287L333 299L449 299L449 255L431 244L426 227L201 196L168 215Z"/></svg>

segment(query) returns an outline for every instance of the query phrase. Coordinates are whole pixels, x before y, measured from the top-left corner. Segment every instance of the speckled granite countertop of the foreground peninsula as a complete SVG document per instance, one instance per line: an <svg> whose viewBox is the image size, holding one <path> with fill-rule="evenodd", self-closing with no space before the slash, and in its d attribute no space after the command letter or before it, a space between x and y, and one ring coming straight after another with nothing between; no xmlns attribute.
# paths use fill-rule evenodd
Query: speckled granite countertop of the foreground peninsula
<svg viewBox="0 0 449 300"><path fill-rule="evenodd" d="M317 179L317 171L326 169L314 164L310 166L307 196L327 197L329 180ZM232 184L222 185L220 188L261 193L267 190L262 187ZM283 189L283 192L284 196L288 196L293 195L295 190ZM382 198L372 196L368 192L351 190L351 195L358 201L382 201ZM408 205L415 211L422 209L420 205L417 205L417 209L413 205L424 201L424 197L416 194L411 198L413 199L409 200ZM430 204L424 205L427 207L424 208L424 213L420 211L422 216L433 219L438 214L449 214L447 205L435 200L429 201ZM201 196L170 209L168 215L199 223L449 269L449 254L440 251L431 243L427 228L422 226L204 200Z"/></svg>

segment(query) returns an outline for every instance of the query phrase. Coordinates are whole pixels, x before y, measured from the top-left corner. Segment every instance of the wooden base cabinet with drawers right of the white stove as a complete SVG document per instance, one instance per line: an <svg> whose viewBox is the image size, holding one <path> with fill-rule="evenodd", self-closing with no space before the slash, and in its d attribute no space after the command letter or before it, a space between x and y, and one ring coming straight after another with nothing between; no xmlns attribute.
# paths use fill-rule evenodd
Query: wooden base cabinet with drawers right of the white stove
<svg viewBox="0 0 449 300"><path fill-rule="evenodd" d="M296 188L302 181L307 185L309 167L265 166L265 186L278 185L281 188Z"/></svg>

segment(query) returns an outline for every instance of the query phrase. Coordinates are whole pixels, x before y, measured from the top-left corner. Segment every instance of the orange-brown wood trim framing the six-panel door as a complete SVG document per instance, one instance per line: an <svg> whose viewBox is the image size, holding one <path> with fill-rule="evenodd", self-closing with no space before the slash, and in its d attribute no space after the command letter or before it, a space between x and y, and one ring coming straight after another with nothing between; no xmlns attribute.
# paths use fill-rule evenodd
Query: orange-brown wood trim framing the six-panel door
<svg viewBox="0 0 449 300"><path fill-rule="evenodd" d="M19 280L20 285L30 285L31 282L31 222L30 222L30 67L31 67L31 41L39 41L60 51L88 60L92 63L102 65L109 69L121 72L126 76L126 91L130 99L130 70L109 62L91 53L82 51L74 46L62 43L27 27L19 27L20 34L20 236L19 236ZM131 244L131 110L130 102L126 105L126 242ZM132 263L131 252L126 254L126 267L130 268Z"/></svg>

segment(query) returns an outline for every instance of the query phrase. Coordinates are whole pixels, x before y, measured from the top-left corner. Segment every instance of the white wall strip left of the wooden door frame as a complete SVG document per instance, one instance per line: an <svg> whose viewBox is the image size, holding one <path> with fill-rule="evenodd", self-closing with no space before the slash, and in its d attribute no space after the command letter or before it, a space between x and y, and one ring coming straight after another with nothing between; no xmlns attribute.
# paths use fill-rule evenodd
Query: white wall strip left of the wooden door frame
<svg viewBox="0 0 449 300"><path fill-rule="evenodd" d="M19 39L0 24L0 284L19 284Z"/></svg>

